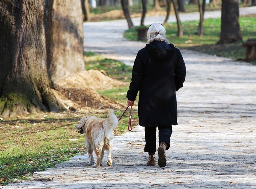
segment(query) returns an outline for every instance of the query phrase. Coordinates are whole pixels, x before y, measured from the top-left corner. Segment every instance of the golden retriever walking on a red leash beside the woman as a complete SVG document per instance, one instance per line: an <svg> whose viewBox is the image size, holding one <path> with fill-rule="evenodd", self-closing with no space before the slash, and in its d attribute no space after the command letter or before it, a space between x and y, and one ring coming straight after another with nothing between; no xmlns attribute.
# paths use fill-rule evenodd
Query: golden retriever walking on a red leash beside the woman
<svg viewBox="0 0 256 189"><path fill-rule="evenodd" d="M107 118L96 118L86 115L76 125L79 133L85 133L85 145L89 154L89 164L93 167L101 167L104 151L107 150L107 165L112 164L111 153L114 146L113 130L118 125L117 116L113 110L109 110ZM94 164L93 154L95 152L97 162Z"/></svg>

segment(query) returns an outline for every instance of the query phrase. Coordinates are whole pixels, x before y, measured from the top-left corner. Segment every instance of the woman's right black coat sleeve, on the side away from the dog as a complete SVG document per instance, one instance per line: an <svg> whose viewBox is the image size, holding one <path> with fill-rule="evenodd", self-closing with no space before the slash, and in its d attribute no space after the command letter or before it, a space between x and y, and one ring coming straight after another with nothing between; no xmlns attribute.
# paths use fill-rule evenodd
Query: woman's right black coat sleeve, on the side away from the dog
<svg viewBox="0 0 256 189"><path fill-rule="evenodd" d="M181 55L181 52L179 49L177 49L177 62L176 62L176 68L174 71L174 82L176 86L176 91L179 90L179 88L183 87L183 83L186 78L186 66L185 62L183 60L183 57Z"/></svg>

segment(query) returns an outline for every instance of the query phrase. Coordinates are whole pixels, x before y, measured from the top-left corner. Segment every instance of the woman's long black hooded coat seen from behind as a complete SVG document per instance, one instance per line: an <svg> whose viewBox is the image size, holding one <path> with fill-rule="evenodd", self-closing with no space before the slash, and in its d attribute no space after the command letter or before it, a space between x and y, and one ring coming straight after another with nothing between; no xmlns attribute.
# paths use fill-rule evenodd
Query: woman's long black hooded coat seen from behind
<svg viewBox="0 0 256 189"><path fill-rule="evenodd" d="M139 125L177 125L176 91L185 76L183 57L173 44L155 41L139 50L127 91L130 101L139 91Z"/></svg>

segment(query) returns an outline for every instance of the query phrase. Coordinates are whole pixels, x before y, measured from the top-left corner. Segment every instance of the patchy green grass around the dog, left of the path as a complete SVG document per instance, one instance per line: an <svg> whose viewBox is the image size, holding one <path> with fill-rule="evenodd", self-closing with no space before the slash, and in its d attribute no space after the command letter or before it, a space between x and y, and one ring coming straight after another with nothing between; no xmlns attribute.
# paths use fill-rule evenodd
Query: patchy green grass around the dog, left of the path
<svg viewBox="0 0 256 189"><path fill-rule="evenodd" d="M103 59L86 53L86 69L106 71L113 79L129 81L131 67L122 62ZM127 86L99 91L119 103L126 104ZM115 112L119 118L124 110ZM137 125L137 111L133 111L133 126ZM106 117L105 112L92 112L97 117ZM0 185L29 179L36 171L42 171L55 164L69 160L77 154L84 154L83 135L75 130L82 113L43 113L16 118L0 119ZM115 135L127 132L129 113L120 120Z"/></svg>

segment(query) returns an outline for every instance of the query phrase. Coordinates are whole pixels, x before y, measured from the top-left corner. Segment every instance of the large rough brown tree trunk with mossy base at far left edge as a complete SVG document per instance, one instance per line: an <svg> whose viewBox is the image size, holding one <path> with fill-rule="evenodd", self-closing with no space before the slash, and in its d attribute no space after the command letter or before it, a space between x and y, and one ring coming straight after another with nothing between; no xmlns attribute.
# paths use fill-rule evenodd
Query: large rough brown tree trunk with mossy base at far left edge
<svg viewBox="0 0 256 189"><path fill-rule="evenodd" d="M56 55L51 46L63 45L56 43L51 27L53 0L0 1L0 10L0 116L65 110L51 90L47 70Z"/></svg>

